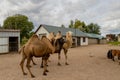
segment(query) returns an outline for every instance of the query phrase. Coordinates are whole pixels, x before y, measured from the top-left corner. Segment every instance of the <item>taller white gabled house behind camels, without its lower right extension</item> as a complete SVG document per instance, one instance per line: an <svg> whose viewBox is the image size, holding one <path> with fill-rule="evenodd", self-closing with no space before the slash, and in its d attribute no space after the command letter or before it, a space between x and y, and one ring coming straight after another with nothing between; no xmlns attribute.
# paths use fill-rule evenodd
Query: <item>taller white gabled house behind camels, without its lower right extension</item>
<svg viewBox="0 0 120 80"><path fill-rule="evenodd" d="M35 31L35 33L38 36L41 36L41 35L48 35L50 32L54 32L56 34L58 31L61 31L64 37L66 35L66 32L68 31L73 32L73 46L88 45L87 35L78 29L63 28L63 27L56 27L50 25L40 25L38 29Z"/></svg>

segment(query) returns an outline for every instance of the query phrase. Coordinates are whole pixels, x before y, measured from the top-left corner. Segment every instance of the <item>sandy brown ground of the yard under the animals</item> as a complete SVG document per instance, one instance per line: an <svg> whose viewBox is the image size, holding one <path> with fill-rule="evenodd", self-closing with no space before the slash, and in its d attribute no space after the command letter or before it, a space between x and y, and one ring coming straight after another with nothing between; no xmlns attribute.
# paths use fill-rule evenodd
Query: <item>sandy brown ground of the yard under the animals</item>
<svg viewBox="0 0 120 80"><path fill-rule="evenodd" d="M41 58L34 58L37 65L32 65L34 79L30 74L24 76L19 66L21 55L0 55L0 80L120 80L120 65L118 61L107 59L109 49L120 49L120 46L89 45L70 48L68 52L69 64L64 64L65 58L62 52L62 66L57 66L57 54L50 58L47 76L43 76L40 68ZM90 57L90 56L93 57ZM28 70L25 67L25 71Z"/></svg>

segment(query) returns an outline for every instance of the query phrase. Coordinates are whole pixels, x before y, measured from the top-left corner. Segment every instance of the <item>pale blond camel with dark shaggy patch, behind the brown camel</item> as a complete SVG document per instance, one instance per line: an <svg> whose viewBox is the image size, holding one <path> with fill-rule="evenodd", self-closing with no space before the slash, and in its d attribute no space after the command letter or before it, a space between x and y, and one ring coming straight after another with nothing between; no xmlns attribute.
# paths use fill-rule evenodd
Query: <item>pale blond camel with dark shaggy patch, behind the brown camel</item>
<svg viewBox="0 0 120 80"><path fill-rule="evenodd" d="M64 50L65 54L65 65L69 65L67 62L67 52L68 49L72 46L72 32L68 31L66 32L66 38L63 39L63 37L60 37L60 35L56 35L55 41L54 41L54 46L55 46L55 52L58 53L58 66L61 66L60 64L60 59L61 59L61 50ZM43 68L43 61L41 62L41 68Z"/></svg>

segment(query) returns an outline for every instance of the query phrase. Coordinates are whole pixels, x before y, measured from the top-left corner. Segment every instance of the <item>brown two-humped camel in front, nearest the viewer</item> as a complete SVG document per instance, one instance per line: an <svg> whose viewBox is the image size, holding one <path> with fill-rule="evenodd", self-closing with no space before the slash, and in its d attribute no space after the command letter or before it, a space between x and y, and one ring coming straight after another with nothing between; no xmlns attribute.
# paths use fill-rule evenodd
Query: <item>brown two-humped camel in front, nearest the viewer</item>
<svg viewBox="0 0 120 80"><path fill-rule="evenodd" d="M44 64L44 71L43 75L47 75L46 72L48 72L46 64L47 59L51 53L54 53L55 48L51 44L50 40L46 38L46 36L43 36L40 40L37 35L33 35L28 42L25 44L25 46L22 49L22 60L20 62L20 66L23 72L23 75L27 75L27 73L24 72L24 61L27 59L26 67L31 74L31 77L35 77L31 70L30 70L30 61L32 60L32 57L42 57L43 58L43 64Z"/></svg>

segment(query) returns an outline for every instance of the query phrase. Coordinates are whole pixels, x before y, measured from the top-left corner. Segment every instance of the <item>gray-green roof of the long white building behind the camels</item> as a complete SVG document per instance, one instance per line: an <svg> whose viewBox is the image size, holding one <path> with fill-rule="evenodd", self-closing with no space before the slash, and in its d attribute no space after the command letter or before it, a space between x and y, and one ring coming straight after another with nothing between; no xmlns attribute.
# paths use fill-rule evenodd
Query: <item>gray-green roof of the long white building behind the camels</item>
<svg viewBox="0 0 120 80"><path fill-rule="evenodd" d="M91 38L98 38L98 39L101 39L101 38L102 38L101 35L91 34L91 33L84 33L84 32L82 32L82 31L80 31L79 29L64 28L64 27L51 26L51 25L45 25L45 24L40 25L39 28L40 28L41 26L43 26L48 32L54 32L55 34L56 34L58 31L61 31L62 35L65 35L66 32L71 31L71 32L73 32L73 36L91 37ZM39 28L38 28L38 29L39 29ZM38 29L37 29L35 32L37 32Z"/></svg>

